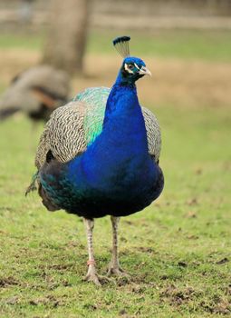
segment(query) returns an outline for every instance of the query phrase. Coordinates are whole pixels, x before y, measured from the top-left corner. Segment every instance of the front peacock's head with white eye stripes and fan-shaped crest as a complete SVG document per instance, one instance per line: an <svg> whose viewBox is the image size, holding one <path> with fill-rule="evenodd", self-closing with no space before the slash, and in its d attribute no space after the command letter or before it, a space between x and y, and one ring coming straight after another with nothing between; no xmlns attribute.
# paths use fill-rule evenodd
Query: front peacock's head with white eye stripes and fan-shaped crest
<svg viewBox="0 0 231 318"><path fill-rule="evenodd" d="M130 36L120 36L113 41L117 51L124 57L120 68L119 78L124 84L133 84L144 75L151 75L145 63L139 58L130 56Z"/></svg>

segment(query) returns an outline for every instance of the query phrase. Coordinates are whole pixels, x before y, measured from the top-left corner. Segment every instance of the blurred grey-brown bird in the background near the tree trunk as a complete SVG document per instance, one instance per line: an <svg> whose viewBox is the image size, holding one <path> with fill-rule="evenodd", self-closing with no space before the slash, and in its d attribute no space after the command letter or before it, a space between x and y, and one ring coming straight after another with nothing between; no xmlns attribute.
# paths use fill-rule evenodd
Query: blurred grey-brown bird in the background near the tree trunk
<svg viewBox="0 0 231 318"><path fill-rule="evenodd" d="M16 112L47 122L53 110L69 100L70 78L50 65L37 65L14 76L0 98L0 121Z"/></svg>

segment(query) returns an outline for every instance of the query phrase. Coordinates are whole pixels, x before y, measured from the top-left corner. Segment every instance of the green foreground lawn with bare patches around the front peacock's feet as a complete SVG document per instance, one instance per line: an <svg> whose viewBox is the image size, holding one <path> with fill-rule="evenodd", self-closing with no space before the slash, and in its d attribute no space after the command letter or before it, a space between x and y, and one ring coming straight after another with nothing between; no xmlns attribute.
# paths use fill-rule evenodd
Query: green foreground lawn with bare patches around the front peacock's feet
<svg viewBox="0 0 231 318"><path fill-rule="evenodd" d="M162 127L163 195L120 224L120 263L131 274L101 288L82 282L82 220L24 198L42 127L0 125L1 317L217 317L231 315L230 112L155 109ZM35 141L36 140L36 141ZM99 273L110 261L111 224L96 221Z"/></svg>

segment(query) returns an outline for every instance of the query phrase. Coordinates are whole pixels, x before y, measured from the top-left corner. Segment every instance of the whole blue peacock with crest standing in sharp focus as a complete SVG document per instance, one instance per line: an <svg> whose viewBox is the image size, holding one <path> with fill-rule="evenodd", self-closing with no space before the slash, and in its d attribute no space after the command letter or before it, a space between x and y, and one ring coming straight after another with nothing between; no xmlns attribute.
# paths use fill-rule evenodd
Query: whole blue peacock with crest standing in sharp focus
<svg viewBox="0 0 231 318"><path fill-rule="evenodd" d="M159 167L161 137L154 114L141 107L136 81L150 75L130 56L130 36L113 45L122 55L111 89L87 88L56 109L47 122L35 156L36 188L49 211L82 216L88 242L85 279L101 284L93 255L94 219L111 215L112 256L108 276L125 275L118 257L121 216L135 214L159 197L164 186Z"/></svg>

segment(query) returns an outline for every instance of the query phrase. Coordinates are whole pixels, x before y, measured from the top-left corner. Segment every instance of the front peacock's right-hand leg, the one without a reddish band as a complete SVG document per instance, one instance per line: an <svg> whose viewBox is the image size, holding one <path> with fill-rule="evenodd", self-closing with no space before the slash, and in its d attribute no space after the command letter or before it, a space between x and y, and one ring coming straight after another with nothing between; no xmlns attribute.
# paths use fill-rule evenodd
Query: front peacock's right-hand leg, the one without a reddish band
<svg viewBox="0 0 231 318"><path fill-rule="evenodd" d="M120 222L120 217L111 215L111 225L112 225L112 255L111 263L109 265L108 276L115 274L120 276L128 276L127 273L120 267L119 257L118 257L118 224Z"/></svg>

